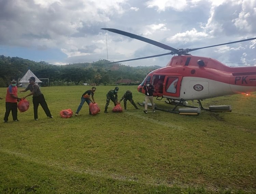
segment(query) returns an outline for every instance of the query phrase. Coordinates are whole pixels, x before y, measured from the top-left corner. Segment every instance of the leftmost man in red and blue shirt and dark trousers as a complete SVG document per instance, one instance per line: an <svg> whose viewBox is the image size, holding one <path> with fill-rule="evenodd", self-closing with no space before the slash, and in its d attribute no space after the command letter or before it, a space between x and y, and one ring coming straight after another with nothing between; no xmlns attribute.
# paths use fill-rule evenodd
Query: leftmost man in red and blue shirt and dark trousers
<svg viewBox="0 0 256 194"><path fill-rule="evenodd" d="M7 123L8 122L8 117L10 112L12 111L12 118L14 121L19 121L17 118L18 115L18 110L17 110L17 101L20 100L17 96L17 82L15 80L11 81L11 84L7 88L7 93L5 97L5 114L4 114L4 119L3 122Z"/></svg>

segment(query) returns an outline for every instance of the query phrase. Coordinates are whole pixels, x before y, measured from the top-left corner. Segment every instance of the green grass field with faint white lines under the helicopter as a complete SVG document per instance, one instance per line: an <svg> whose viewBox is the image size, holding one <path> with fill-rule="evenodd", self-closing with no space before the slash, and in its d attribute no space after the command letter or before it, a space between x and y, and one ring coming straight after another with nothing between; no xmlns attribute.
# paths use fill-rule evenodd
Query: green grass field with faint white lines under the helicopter
<svg viewBox="0 0 256 194"><path fill-rule="evenodd" d="M144 114L128 102L126 112L113 113L110 102L105 114L106 93L114 86L97 86L99 114L89 115L85 103L80 116L61 118L63 109L75 113L89 88L42 87L54 119L39 106L34 121L30 96L20 121L10 114L3 123L0 100L0 193L256 193L256 95L202 102L205 108L230 104L232 112ZM118 100L129 89L142 102L136 88L119 86ZM0 88L0 97L5 94Z"/></svg>

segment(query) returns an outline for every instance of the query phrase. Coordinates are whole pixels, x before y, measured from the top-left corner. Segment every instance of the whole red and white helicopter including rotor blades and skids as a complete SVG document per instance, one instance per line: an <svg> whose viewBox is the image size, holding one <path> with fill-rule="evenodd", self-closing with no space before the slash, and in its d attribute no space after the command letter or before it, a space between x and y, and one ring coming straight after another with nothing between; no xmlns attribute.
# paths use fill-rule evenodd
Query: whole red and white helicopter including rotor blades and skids
<svg viewBox="0 0 256 194"><path fill-rule="evenodd" d="M147 59L169 54L174 55L165 67L151 71L137 88L138 92L144 94L145 91L143 86L145 83L150 82L155 88L153 96L157 97L157 100L165 98L166 103L175 105L174 108L170 110L156 108L158 110L192 115L199 115L201 113L201 109L214 112L231 112L231 105L209 106L209 109L207 109L202 106L201 101L203 99L230 96L233 94L248 95L251 92L256 91L256 66L229 67L212 58L193 56L189 54L189 52L199 49L251 41L256 39L256 37L194 49L176 49L129 32L113 28L102 28L102 30L138 39L171 51L164 54L111 63ZM187 100L197 100L199 107L188 106ZM143 103L139 104L143 106ZM180 108L177 111L176 108L178 106L187 108Z"/></svg>

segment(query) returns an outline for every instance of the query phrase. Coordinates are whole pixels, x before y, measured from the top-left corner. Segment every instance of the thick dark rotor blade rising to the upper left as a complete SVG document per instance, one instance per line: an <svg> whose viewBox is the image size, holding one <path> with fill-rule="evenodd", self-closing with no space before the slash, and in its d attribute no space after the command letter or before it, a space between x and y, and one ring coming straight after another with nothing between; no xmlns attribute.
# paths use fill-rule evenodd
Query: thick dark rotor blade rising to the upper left
<svg viewBox="0 0 256 194"><path fill-rule="evenodd" d="M117 34L121 34L121 35L124 35L124 36L128 36L128 37L137 39L137 40L139 40L139 41L143 41L143 42L145 42L145 43L149 43L149 44L155 45L155 46L157 46L157 47L160 47L160 48L163 48L163 49L166 49L166 50L171 50L171 51L173 51L173 54L178 54L178 53L179 53L179 50L178 50L178 49L172 48L172 47L170 47L170 46L168 46L168 45L159 43L159 42L157 42L157 41L153 41L152 39L148 39L148 38L145 38L145 37L136 35L136 34L132 34L132 33L129 33L129 32L125 32L125 31L122 31L122 30L117 30L117 29L114 29L114 28L101 28L101 30L108 30L108 31L110 31L110 32L114 32L114 33L117 33Z"/></svg>

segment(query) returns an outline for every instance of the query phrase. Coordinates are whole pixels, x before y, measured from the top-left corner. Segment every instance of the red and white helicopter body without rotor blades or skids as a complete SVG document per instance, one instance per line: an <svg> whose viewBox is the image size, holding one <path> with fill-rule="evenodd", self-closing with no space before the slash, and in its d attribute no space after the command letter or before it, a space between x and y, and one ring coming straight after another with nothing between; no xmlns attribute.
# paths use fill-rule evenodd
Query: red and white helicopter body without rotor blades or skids
<svg viewBox="0 0 256 194"><path fill-rule="evenodd" d="M154 96L174 100L201 100L256 91L256 66L229 67L200 56L173 56L166 67L150 72L138 86L150 82Z"/></svg>

